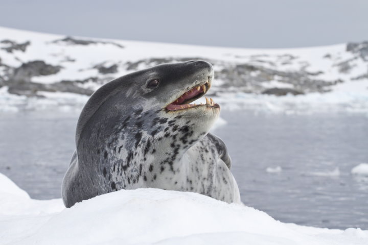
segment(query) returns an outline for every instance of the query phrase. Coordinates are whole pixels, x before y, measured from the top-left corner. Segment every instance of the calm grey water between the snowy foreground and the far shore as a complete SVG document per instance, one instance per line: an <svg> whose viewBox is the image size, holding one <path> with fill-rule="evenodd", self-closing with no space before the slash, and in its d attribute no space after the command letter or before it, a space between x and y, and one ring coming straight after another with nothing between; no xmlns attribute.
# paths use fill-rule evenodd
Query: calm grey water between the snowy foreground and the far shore
<svg viewBox="0 0 368 245"><path fill-rule="evenodd" d="M223 111L221 116L227 124L215 133L228 146L246 205L282 222L368 229L368 179L350 174L368 162L366 115ZM0 172L32 198L59 198L77 118L0 114ZM266 171L277 166L279 173Z"/></svg>

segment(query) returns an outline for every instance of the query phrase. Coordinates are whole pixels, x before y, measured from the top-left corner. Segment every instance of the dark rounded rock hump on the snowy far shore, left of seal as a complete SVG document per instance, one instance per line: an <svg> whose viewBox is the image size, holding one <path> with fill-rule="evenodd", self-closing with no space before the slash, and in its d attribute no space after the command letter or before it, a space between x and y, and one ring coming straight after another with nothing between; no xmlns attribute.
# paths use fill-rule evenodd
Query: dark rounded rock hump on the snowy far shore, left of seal
<svg viewBox="0 0 368 245"><path fill-rule="evenodd" d="M54 66L46 64L44 61L36 60L28 63L23 63L14 70L13 76L10 78L13 81L30 82L34 76L48 76L57 74L62 66Z"/></svg>

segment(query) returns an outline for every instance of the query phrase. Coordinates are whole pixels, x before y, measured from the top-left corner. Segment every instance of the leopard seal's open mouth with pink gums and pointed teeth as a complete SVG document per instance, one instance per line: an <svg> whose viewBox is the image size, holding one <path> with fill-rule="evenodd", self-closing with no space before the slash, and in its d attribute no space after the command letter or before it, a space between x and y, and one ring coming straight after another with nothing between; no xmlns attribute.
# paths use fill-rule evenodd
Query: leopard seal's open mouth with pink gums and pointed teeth
<svg viewBox="0 0 368 245"><path fill-rule="evenodd" d="M178 99L176 99L176 101L168 105L166 109L169 111L177 111L200 106L219 108L220 106L218 104L214 103L212 99L208 99L207 97L205 98L206 104L189 104L202 97L209 88L210 84L208 82L203 85L195 86L187 92L183 93L180 97L178 97Z"/></svg>

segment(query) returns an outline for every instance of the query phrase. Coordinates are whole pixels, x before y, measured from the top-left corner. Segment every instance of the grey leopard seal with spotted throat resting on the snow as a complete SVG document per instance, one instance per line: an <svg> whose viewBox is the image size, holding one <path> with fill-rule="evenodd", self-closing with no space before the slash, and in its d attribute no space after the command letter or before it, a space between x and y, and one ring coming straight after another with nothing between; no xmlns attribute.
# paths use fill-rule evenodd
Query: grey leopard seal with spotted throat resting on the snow
<svg viewBox="0 0 368 245"><path fill-rule="evenodd" d="M120 189L198 192L240 202L224 142L209 133L220 107L189 104L214 77L205 61L162 64L112 80L84 106L62 183L66 207Z"/></svg>

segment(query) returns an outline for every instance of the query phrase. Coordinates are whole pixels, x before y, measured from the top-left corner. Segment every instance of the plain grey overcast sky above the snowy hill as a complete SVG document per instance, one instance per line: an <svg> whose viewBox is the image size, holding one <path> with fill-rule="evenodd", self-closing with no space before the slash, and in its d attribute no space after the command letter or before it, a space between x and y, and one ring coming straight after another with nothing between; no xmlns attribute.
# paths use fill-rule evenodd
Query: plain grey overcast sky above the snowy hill
<svg viewBox="0 0 368 245"><path fill-rule="evenodd" d="M0 0L0 26L214 46L301 47L368 40L368 0Z"/></svg>

